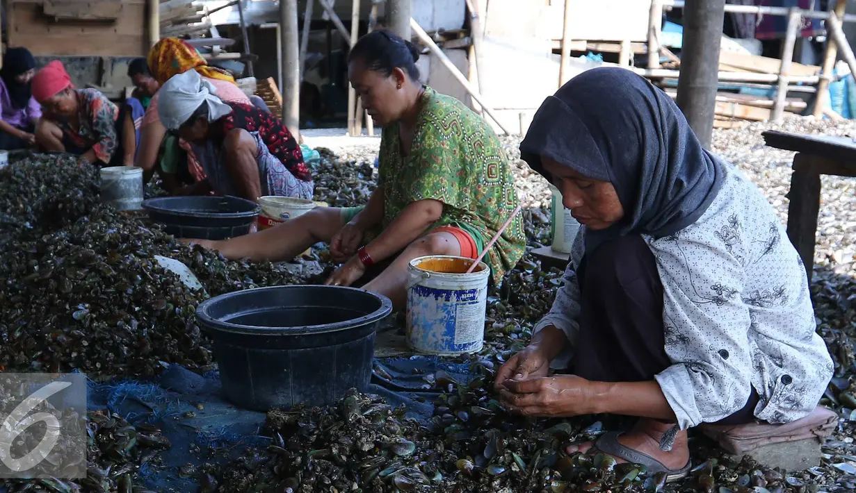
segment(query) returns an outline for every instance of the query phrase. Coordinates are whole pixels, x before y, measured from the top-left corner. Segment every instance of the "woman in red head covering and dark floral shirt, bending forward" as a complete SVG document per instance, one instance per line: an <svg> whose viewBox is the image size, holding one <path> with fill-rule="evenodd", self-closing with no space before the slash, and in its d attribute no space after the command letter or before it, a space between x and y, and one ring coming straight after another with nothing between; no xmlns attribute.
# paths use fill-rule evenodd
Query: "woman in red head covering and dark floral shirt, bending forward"
<svg viewBox="0 0 856 493"><path fill-rule="evenodd" d="M76 89L62 67L53 61L33 77L33 97L42 105L36 142L49 152L69 152L102 166L134 165L134 113L110 102L95 89ZM129 142L122 140L130 122Z"/></svg>

